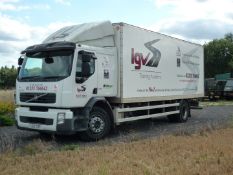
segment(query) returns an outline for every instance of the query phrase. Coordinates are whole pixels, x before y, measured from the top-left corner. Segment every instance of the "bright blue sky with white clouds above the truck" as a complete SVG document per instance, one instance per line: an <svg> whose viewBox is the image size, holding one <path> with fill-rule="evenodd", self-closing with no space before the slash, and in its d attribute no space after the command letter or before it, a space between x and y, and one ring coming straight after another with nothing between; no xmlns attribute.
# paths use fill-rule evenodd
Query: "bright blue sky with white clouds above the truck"
<svg viewBox="0 0 233 175"><path fill-rule="evenodd" d="M233 0L0 0L0 67L58 29L126 22L204 44L233 32Z"/></svg>

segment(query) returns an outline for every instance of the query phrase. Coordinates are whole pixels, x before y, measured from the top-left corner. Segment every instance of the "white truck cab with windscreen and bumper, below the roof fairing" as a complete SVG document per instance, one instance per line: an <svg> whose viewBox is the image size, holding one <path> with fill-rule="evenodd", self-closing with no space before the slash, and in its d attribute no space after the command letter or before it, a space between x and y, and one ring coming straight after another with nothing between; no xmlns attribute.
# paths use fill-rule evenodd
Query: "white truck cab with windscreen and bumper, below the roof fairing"
<svg viewBox="0 0 233 175"><path fill-rule="evenodd" d="M117 94L115 53L115 48L72 42L40 44L22 51L16 81L17 126L50 133L86 130L85 113L90 112L91 103ZM92 129L101 132L101 120L96 117L91 122Z"/></svg>

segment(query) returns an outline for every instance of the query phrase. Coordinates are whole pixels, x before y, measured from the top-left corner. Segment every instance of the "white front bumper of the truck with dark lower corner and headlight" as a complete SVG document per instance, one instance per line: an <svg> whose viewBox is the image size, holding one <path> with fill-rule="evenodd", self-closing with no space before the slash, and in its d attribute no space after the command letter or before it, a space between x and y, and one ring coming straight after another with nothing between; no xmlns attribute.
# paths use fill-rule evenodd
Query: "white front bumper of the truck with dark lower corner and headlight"
<svg viewBox="0 0 233 175"><path fill-rule="evenodd" d="M58 120L58 115L64 115L64 120ZM15 110L17 127L23 130L71 134L85 130L83 121L69 109L48 109L48 111L30 111L29 107L18 107Z"/></svg>

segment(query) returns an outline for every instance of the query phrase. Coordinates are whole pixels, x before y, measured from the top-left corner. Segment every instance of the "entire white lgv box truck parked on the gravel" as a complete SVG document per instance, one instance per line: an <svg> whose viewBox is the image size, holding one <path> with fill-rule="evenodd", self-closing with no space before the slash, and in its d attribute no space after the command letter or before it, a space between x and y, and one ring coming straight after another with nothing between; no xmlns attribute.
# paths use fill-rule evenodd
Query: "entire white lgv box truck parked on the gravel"
<svg viewBox="0 0 233 175"><path fill-rule="evenodd" d="M19 129L98 140L123 122L185 122L204 96L201 45L125 23L65 27L21 54Z"/></svg>

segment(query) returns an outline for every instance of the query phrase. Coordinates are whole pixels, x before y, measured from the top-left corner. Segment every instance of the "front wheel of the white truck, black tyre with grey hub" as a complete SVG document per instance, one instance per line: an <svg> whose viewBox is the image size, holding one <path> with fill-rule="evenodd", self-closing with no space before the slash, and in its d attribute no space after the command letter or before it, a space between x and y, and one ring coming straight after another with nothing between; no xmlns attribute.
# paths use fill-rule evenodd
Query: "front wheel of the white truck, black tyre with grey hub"
<svg viewBox="0 0 233 175"><path fill-rule="evenodd" d="M104 138L111 129L108 113L100 107L93 107L90 112L88 129L80 133L84 141L97 141Z"/></svg>

